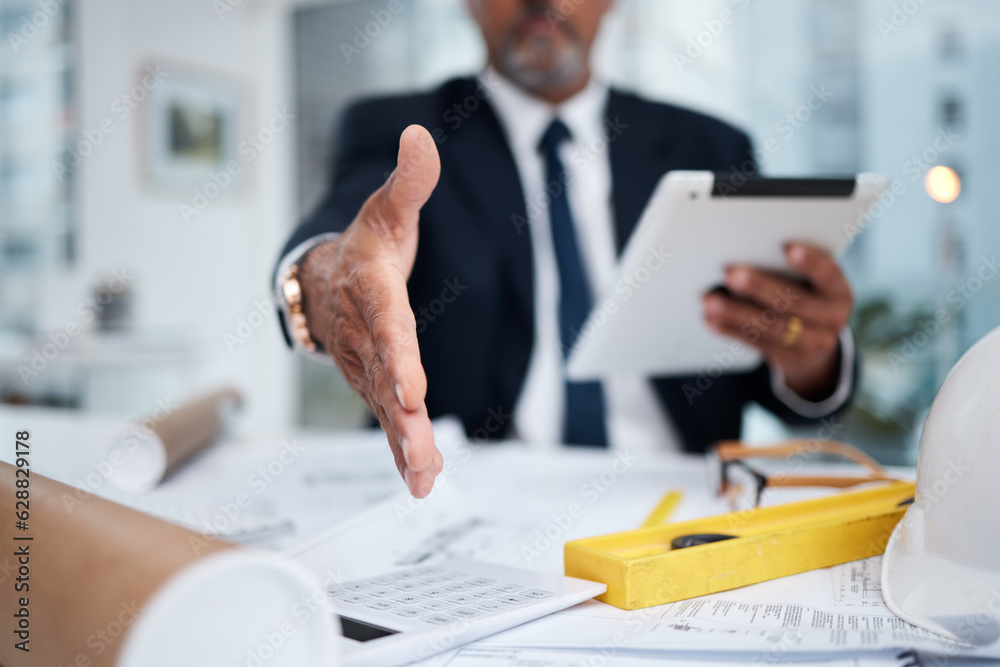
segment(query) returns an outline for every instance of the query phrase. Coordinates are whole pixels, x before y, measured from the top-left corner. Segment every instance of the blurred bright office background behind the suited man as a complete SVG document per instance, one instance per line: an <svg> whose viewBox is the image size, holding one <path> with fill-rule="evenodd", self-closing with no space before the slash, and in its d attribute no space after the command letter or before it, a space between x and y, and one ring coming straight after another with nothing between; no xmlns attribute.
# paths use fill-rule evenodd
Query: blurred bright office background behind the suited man
<svg viewBox="0 0 1000 667"><path fill-rule="evenodd" d="M387 4L0 0L4 402L143 414L235 382L246 431L364 422L285 350L270 272L345 104L482 65L463 0L373 23ZM912 461L947 370L1000 325L1000 4L618 0L595 64L745 128L766 174L894 179L844 260L864 375L837 435Z"/></svg>

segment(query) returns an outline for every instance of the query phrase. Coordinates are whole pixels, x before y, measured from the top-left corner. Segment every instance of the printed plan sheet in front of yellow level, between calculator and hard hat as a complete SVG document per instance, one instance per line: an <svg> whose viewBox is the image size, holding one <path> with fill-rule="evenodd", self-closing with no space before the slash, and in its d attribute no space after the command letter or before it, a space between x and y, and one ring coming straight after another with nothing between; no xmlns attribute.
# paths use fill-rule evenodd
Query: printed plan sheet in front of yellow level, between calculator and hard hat
<svg viewBox="0 0 1000 667"><path fill-rule="evenodd" d="M1000 646L973 649L874 604L880 568L876 557L637 611L587 602L484 643L564 649L606 644L619 652L667 656L708 650L761 660L895 649L1000 657ZM866 595L872 604L862 604Z"/></svg>

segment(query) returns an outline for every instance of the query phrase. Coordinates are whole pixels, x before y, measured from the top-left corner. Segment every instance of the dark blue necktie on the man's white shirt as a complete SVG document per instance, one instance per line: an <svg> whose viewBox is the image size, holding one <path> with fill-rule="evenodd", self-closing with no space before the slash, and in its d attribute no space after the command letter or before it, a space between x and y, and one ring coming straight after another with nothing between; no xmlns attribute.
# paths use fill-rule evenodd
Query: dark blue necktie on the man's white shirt
<svg viewBox="0 0 1000 667"><path fill-rule="evenodd" d="M570 138L569 128L558 118L552 121L538 146L545 156L549 219L559 265L559 335L565 362L580 328L590 313L591 297L580 246L576 241L573 214L566 193L566 170L559 159L559 146ZM565 372L565 363L563 364ZM600 382L566 384L563 441L571 445L606 447L604 392Z"/></svg>

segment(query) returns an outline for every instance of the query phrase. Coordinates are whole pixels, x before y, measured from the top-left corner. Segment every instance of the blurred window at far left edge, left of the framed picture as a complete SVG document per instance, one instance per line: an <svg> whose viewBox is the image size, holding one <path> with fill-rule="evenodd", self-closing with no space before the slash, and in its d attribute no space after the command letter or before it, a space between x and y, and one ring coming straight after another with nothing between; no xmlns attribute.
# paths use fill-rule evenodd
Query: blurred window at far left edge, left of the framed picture
<svg viewBox="0 0 1000 667"><path fill-rule="evenodd" d="M31 331L39 276L72 247L70 184L51 164L69 137L69 3L0 0L0 329Z"/></svg>

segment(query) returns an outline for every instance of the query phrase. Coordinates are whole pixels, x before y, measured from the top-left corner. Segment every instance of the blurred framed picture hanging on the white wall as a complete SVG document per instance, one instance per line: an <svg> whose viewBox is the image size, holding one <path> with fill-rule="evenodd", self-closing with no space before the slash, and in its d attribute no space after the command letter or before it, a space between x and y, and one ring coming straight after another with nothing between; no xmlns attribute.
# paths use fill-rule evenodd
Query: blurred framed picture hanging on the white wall
<svg viewBox="0 0 1000 667"><path fill-rule="evenodd" d="M163 64L150 91L146 168L152 185L197 187L237 160L244 100L237 82ZM227 187L239 180L231 175Z"/></svg>

